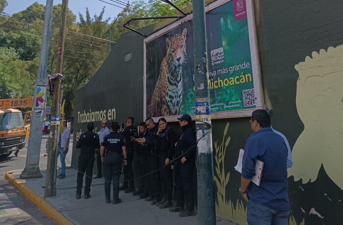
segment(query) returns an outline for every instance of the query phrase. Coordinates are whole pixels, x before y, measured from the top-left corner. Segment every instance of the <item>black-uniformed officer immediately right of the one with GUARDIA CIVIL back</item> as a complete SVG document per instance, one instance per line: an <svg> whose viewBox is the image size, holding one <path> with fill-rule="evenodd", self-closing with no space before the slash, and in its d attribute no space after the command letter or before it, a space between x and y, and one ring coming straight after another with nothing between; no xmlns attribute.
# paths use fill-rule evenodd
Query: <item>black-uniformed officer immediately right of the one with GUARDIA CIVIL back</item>
<svg viewBox="0 0 343 225"><path fill-rule="evenodd" d="M124 166L124 182L119 190L124 190L125 193L130 193L135 191L133 171L132 171L132 161L133 161L133 143L131 138L137 136L137 128L133 126L133 117L128 117L126 119L126 128L123 129L122 135L126 141L126 151L127 151L127 164Z"/></svg>

